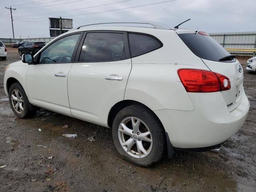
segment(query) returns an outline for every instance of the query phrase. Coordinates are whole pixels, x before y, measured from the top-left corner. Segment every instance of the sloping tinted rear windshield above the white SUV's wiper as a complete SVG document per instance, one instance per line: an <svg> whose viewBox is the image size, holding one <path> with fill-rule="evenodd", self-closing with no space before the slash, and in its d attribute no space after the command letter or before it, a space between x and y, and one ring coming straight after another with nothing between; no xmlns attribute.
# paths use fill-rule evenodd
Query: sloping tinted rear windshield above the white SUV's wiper
<svg viewBox="0 0 256 192"><path fill-rule="evenodd" d="M224 47L208 35L198 33L178 34L182 41L198 57L211 61L219 61L221 58L230 55ZM231 62L234 61L231 60ZM230 62L230 61L226 61Z"/></svg>

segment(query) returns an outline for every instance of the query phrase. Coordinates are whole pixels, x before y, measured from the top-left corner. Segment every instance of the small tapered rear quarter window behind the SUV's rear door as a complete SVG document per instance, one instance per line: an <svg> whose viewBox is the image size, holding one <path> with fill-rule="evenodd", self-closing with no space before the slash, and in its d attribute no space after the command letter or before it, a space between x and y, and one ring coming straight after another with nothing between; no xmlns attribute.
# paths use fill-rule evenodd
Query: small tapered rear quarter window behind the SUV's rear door
<svg viewBox="0 0 256 192"><path fill-rule="evenodd" d="M132 57L136 57L162 47L162 43L151 36L129 34Z"/></svg>

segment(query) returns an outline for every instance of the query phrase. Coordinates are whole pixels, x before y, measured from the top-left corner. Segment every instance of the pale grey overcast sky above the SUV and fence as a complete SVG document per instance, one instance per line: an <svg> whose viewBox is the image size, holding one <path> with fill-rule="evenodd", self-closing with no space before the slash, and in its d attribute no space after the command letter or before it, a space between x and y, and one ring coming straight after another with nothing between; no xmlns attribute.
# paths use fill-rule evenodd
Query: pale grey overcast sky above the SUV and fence
<svg viewBox="0 0 256 192"><path fill-rule="evenodd" d="M16 8L13 13L16 38L50 36L48 17L59 16L73 19L74 27L101 22L150 21L173 27L191 18L182 28L206 32L256 31L256 0L175 0L141 6L164 1L167 0L0 0L0 38L12 37L10 10L5 6ZM110 5L99 6L102 4ZM98 7L88 8L91 6ZM140 7L129 8L134 6ZM128 9L116 10L122 8ZM102 13L88 14L94 12Z"/></svg>

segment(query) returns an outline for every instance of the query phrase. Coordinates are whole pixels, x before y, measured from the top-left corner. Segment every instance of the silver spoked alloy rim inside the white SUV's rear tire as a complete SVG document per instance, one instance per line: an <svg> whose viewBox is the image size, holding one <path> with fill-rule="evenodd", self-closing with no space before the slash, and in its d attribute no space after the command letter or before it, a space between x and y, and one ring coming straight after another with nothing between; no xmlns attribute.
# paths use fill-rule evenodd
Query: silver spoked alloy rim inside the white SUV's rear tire
<svg viewBox="0 0 256 192"><path fill-rule="evenodd" d="M122 148L132 157L144 158L152 150L152 134L139 118L127 117L119 125L118 138Z"/></svg>

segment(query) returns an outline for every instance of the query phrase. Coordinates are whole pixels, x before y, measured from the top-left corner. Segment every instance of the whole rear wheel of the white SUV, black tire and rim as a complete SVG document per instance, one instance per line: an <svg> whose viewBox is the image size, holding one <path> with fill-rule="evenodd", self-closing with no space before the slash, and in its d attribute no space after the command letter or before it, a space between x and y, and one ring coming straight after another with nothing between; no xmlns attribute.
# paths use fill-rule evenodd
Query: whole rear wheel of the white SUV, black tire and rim
<svg viewBox="0 0 256 192"><path fill-rule="evenodd" d="M131 130L137 130L135 127L138 120L140 121L139 132L132 132L131 135ZM135 123L134 126L132 126L132 121ZM125 128L129 135L124 133L124 126L121 123L129 128L129 130L126 129L127 127ZM146 133L148 136L144 137ZM166 155L166 135L162 123L152 111L144 106L132 105L120 110L114 118L112 136L118 152L124 159L138 166L152 166ZM151 142L145 141L145 138ZM132 140L134 144L132 144ZM132 145L130 150L128 150L128 145L124 145L124 142ZM143 150L140 150L141 152L138 150L138 146L141 148L142 144L146 153L143 153Z"/></svg>

